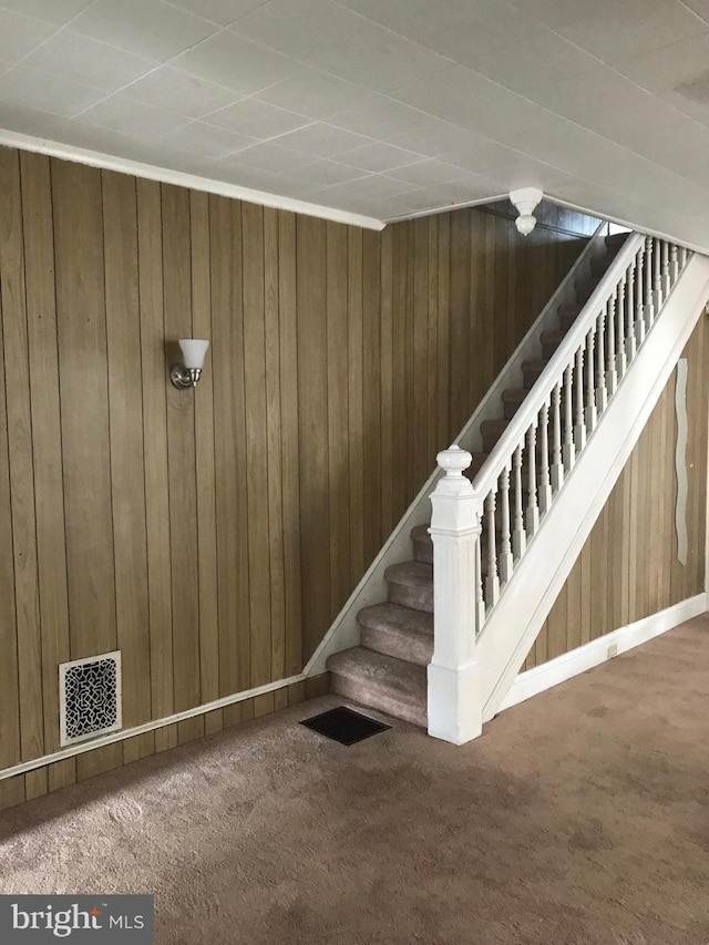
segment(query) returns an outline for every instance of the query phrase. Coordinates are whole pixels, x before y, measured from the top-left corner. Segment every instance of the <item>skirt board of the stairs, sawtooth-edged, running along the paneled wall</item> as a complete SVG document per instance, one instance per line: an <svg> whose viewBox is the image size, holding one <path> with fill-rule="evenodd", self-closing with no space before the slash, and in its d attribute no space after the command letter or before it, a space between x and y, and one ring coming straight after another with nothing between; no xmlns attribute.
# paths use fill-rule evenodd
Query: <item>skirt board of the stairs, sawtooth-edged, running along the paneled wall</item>
<svg viewBox="0 0 709 945"><path fill-rule="evenodd" d="M587 279L592 275L594 261L599 256L603 256L605 251L604 240L607 234L608 225L602 223L475 409L475 412L455 440L464 449L471 452L477 452L482 449L481 424L483 421L494 419L499 415L501 394L505 388L521 387L523 361L531 358L538 358L542 351L542 333L555 326L559 306L573 305L575 302L575 284L577 280ZM410 557L411 530L418 525L429 524L431 518L430 495L440 476L440 470L435 469L403 514L401 521L397 524L381 551L366 571L360 583L335 618L332 626L322 641L310 657L304 669L306 676L317 676L320 672L325 672L328 657L359 645L361 634L357 623L357 615L363 608L387 599L388 592L384 573L390 565L407 561Z"/></svg>

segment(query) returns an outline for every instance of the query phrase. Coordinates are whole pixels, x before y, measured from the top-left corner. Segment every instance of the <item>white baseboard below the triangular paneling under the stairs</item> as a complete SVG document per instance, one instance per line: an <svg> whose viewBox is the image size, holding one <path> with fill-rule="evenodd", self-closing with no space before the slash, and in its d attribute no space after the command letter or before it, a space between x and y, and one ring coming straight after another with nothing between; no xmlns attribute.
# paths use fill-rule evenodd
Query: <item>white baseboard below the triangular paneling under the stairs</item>
<svg viewBox="0 0 709 945"><path fill-rule="evenodd" d="M579 672L593 669L594 666L599 666L609 658L613 659L613 657L608 657L609 646L617 646L618 655L626 653L654 637L659 637L679 624L684 624L685 620L706 614L709 609L708 605L709 594L697 594L695 597L688 597L687 600L681 600L665 610L636 620L635 624L619 627L610 634L571 650L571 653L557 656L556 659L551 659L542 666L535 666L534 669L521 672L505 696L500 711L524 702L532 696L537 696L553 686L558 686L559 682L565 682L567 679L578 676Z"/></svg>

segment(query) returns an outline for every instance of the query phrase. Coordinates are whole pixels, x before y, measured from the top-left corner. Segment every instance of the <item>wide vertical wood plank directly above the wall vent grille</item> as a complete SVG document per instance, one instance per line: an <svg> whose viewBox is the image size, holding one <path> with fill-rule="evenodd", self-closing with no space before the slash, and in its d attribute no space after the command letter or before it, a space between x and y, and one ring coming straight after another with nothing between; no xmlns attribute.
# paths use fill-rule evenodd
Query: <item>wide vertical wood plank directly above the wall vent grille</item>
<svg viewBox="0 0 709 945"><path fill-rule="evenodd" d="M101 172L52 161L51 173L69 617L78 659L117 643Z"/></svg>

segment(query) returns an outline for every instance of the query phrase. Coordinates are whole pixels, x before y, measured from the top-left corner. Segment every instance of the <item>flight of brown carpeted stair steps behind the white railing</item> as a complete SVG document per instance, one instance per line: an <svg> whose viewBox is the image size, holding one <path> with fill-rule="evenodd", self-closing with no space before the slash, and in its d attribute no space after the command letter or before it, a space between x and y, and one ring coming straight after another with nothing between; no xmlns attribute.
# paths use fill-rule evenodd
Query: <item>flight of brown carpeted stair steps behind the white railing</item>
<svg viewBox="0 0 709 945"><path fill-rule="evenodd" d="M504 388L497 396L499 417L480 423L482 450L472 454L471 475L483 466L626 237L626 233L606 236L603 251L590 259L589 275L578 277L574 274L574 300L558 304L556 325L538 331L541 357L522 361L522 386ZM526 464L521 469L526 483ZM525 485L522 493L528 494ZM500 546L501 525L497 521L496 546ZM332 691L425 728L427 667L433 656L433 543L427 524L414 525L410 538L413 559L389 565L384 572L387 602L364 607L357 614L360 645L330 656L327 668L331 672ZM481 538L483 579L489 576L489 532L484 532Z"/></svg>

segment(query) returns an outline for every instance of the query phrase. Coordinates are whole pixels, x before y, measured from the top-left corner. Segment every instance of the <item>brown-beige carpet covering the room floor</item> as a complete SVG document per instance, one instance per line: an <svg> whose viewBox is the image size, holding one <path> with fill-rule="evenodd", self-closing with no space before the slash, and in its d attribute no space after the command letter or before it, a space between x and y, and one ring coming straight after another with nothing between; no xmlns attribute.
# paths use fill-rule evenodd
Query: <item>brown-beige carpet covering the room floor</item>
<svg viewBox="0 0 709 945"><path fill-rule="evenodd" d="M0 814L0 892L153 892L158 945L709 943L709 618L463 748L222 732Z"/></svg>

